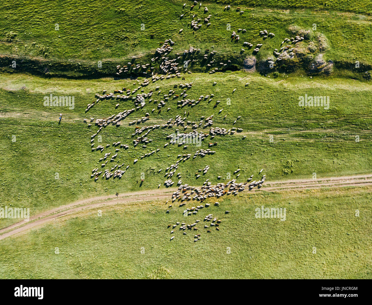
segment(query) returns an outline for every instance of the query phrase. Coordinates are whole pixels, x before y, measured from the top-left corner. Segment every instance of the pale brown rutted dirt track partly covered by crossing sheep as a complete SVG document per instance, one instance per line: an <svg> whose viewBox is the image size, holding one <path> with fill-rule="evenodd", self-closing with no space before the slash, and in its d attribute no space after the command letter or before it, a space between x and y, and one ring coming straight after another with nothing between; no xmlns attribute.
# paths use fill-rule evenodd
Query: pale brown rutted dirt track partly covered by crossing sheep
<svg viewBox="0 0 372 305"><path fill-rule="evenodd" d="M262 191L289 191L289 190L308 190L313 188L324 187L358 187L372 185L372 174L355 175L345 177L330 177L320 179L296 179L287 181L267 181L262 188L254 188L251 192ZM112 206L115 204L128 204L135 202L145 202L160 199L169 199L176 188L166 190L144 190L132 193L126 193L116 197L115 195L93 197L89 199L79 200L49 211L45 211L33 217L30 217L28 222L21 221L0 230L0 240L12 235L25 232L36 226L41 226L44 223L57 219L62 216L77 213L81 210L94 209L104 206Z"/></svg>

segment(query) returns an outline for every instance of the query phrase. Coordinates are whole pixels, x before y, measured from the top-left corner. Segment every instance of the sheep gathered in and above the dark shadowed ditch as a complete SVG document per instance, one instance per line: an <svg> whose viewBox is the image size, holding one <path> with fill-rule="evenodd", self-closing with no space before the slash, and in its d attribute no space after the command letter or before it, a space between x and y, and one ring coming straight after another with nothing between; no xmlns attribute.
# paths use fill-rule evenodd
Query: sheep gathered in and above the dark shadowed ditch
<svg viewBox="0 0 372 305"><path fill-rule="evenodd" d="M195 18L196 13L193 14L193 10L195 6L198 5L197 1L193 1L193 4L190 5L189 10L190 13L187 14L186 12L183 12L180 15L180 19L186 18L186 16L189 16L191 19L189 26L193 31L197 31L202 27L204 24L207 28L211 26L211 18L212 15L205 15L201 18ZM199 9L202 6L202 3L199 3ZM187 10L187 5L186 3L183 4L183 10ZM230 10L231 6L227 5L225 6L224 10ZM243 14L244 11L240 10L240 7L236 8L236 12L239 12L240 14ZM205 7L204 11L202 12L204 14L208 13L208 8ZM240 33L244 34L247 33L246 29L239 28L235 31L232 31L231 34L231 39L235 43L237 43L240 40ZM182 33L183 28L179 30L179 33ZM259 36L265 40L267 38L273 38L275 37L275 34L272 32L268 32L266 29L260 30L259 31ZM266 60L266 64L270 67L270 69L273 69L273 66L275 63L279 63L283 59L289 59L293 58L295 53L294 53L294 44L297 42L300 42L304 40L304 37L300 36L295 36L292 38L285 38L280 45L280 50L275 49L273 51L274 57L268 57ZM282 47L283 44L288 43L288 45L285 45ZM117 71L116 75L117 76L123 76L123 77L128 77L131 75L138 75L138 76L144 76L144 77L151 77L151 81L155 82L157 80L162 80L162 79L169 79L171 77L182 77L181 72L180 72L180 65L183 66L183 72L187 73L192 73L189 71L189 66L193 65L198 62L198 58L200 57L195 57L196 55L199 55L201 53L201 49L198 48L193 48L189 47L189 50L185 50L182 53L176 53L177 57L170 58L169 54L173 50L175 42L172 41L171 39L166 39L164 43L161 45L161 47L158 47L155 51L154 57L151 58L150 63L146 64L136 64L134 63L135 57L132 57L132 60L125 64L124 66L117 66ZM290 45L292 44L292 45ZM251 49L253 48L254 44L251 42L244 41L243 45L240 49L241 53L244 53L246 51L245 48ZM260 48L263 46L262 43L256 44L256 46L253 49L253 55L257 54L260 51ZM227 69L231 65L231 61L227 60L226 62L219 62L214 60L214 55L217 53L217 51L209 51L205 50L205 54L203 56L202 62L200 63L201 66L206 67L206 72L209 74L213 74L216 72L219 72L221 70ZM146 84L150 83L150 79L146 80ZM139 89L139 88L138 88ZM134 91L137 91L138 89L135 89ZM130 93L126 92L127 94ZM101 95L102 97L99 96L99 99L106 98L105 95ZM99 100L97 99L97 101ZM86 111L88 111L95 103L92 105L88 105Z"/></svg>

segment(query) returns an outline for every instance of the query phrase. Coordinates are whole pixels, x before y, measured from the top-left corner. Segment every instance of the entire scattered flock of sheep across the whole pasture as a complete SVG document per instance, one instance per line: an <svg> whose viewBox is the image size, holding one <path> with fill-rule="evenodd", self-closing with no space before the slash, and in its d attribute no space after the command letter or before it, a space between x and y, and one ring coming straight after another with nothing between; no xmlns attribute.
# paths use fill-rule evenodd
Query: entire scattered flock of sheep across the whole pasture
<svg viewBox="0 0 372 305"><path fill-rule="evenodd" d="M191 10L193 7L198 4L197 1L194 1L194 4L191 6ZM184 4L183 8L185 8L186 4ZM199 4L199 7L201 7L201 3ZM230 10L231 6L228 5L225 7L225 10ZM207 13L208 9L205 7L204 13ZM237 12L244 13L240 10L240 8L237 8ZM185 14L182 14L180 18L183 18ZM203 19L194 19L195 15L192 16L192 21L190 23L191 28L193 28L195 31L201 28L203 22L208 27L211 25L211 15L207 16ZM180 32L182 32L183 29L180 29ZM246 33L246 29L238 29L237 32L232 32L231 38L238 42L240 37L237 33ZM272 38L275 36L275 34L268 32L267 30L260 31L259 34L262 39ZM303 37L292 37L292 38L286 38L283 40L282 44L292 43L296 44L299 41L302 41ZM141 83L140 86L134 89L127 89L122 88L121 90L114 90L112 93L108 93L106 90L103 90L101 94L96 94L96 101L88 104L86 112L89 111L94 105L96 105L99 102L108 101L108 100L116 100L118 101L115 105L115 109L118 109L120 107L121 102L125 102L126 104L133 103L131 109L126 109L124 111L120 111L116 114L111 115L107 118L90 118L90 121L84 120L84 123L87 123L88 126L92 126L94 123L97 126L97 132L94 133L91 136L90 142L91 142L91 148L92 151L99 151L102 153L105 149L108 149L109 147L113 149L112 152L106 152L104 155L101 155L101 158L99 158L99 164L100 166L97 168L94 168L92 170L91 178L94 178L95 181L102 175L103 179L110 179L118 178L120 179L122 175L125 174L126 170L129 168L130 164L124 165L124 163L117 163L116 158L119 154L125 153L126 150L129 149L129 144L119 142L114 142L112 144L106 144L106 145L97 145L95 146L94 140L96 139L97 135L106 128L107 126L116 126L119 127L123 123L124 119L127 118L129 115L134 115L136 111L142 109L145 107L146 104L154 104L155 107L151 111L151 116L155 115L155 111L157 114L160 114L163 109L163 111L169 111L171 107L167 107L167 104L171 102L171 100L177 100L177 109L182 109L184 107L187 107L189 109L192 109L193 107L196 107L201 102L207 102L210 103L214 100L214 94L206 94L201 95L198 98L188 98L187 90L192 88L193 83L180 83L179 85L175 85L173 89L167 90L166 92L162 92L162 89L160 86L157 86L154 90L150 90L148 92L145 92L145 87L148 86L150 83L155 83L160 80L164 79L170 79L172 77L182 77L181 72L179 71L179 62L184 60L184 63L186 65L184 66L184 71L191 73L187 71L187 66L189 64L193 64L196 60L193 59L193 56L196 54L199 54L201 52L200 49L189 47L188 50L185 50L183 54L177 53L177 57L174 59L169 58L169 53L173 50L173 45L175 42L173 42L171 39L166 39L161 45L161 47L157 48L155 51L154 57L151 58L151 63L147 64L135 64L135 58L132 58L131 62L128 62L124 66L117 66L117 75L122 76L129 76L131 73L141 73L147 77L145 78ZM251 48L253 47L253 44L244 42L243 46ZM262 44L257 44L256 48L254 49L254 52L258 52ZM245 50L242 48L241 52L244 52ZM273 52L273 55L276 57L277 61L280 61L282 58L285 57L293 57L294 53L294 47L291 45L285 45L284 47L281 47L280 50L275 49ZM215 60L213 60L214 55L216 54L216 51L209 52L208 50L205 52L203 56L203 60L206 61L207 67L212 67L213 65L218 65L219 67L227 67L229 64L231 64L231 61L227 61L227 63L218 63ZM187 60L185 60L187 59ZM267 62L274 63L275 61L272 60L272 58L267 58ZM157 67L157 68L155 68ZM219 67L215 67L209 73L215 73L219 70ZM216 82L213 84L215 85ZM177 93L177 90L181 90L180 93ZM233 93L236 89L233 90ZM217 107L220 101L216 101L214 108ZM224 109L221 108L218 112L218 115L221 114L221 112ZM150 111L149 111L150 112ZM240 177L240 169L238 168L234 175L236 176L234 179L231 179L231 181L228 181L227 183L220 182L215 185L212 185L212 183L209 181L209 179L206 179L201 187L194 187L190 186L188 184L183 184L182 182L182 176L181 173L178 172L179 166L181 162L185 162L189 160L191 157L192 159L195 158L203 158L206 155L214 155L216 153L215 150L212 150L211 147L217 146L218 142L212 141L212 139L215 136L225 136L227 134L234 134L240 133L243 131L241 128L237 128L234 126L231 126L231 128L226 129L222 127L214 127L214 115L210 116L202 116L199 121L192 121L188 120L188 115L186 115L186 111L183 115L177 115L174 119L170 118L169 120L164 121L160 124L152 124L152 125L145 125L145 126L138 126L141 124L146 124L148 120L150 120L150 113L146 112L144 117L137 118L135 120L129 121L128 126L135 125L134 132L131 134L132 136L132 145L133 147L136 147L138 145L141 145L142 149L147 149L148 144L153 142L153 139L150 139L150 132L158 129L158 128L183 128L183 132L179 132L177 129L177 134L169 134L166 136L166 143L163 146L163 149L166 149L168 145L177 145L180 147L180 149L187 149L189 146L189 140L195 140L199 139L200 141L205 141L208 137L210 142L208 143L208 148L206 149L198 149L194 153L194 155L190 153L186 154L180 154L177 156L176 162L174 164L171 164L169 167L167 167L163 174L164 174L164 186L165 187L172 187L175 183L173 181L174 175L177 178L177 190L174 191L174 193L171 196L171 204L169 204L168 210L166 213L171 213L172 205L177 201L179 207L185 206L188 201L199 201L199 205L188 207L183 211L184 216L193 216L197 215L200 210L208 208L210 206L210 203L203 203L206 199L210 197L215 198L221 198L222 196L228 196L228 195L236 195L240 193L241 191L244 191L245 189L252 190L254 187L260 188L263 184L263 182L266 179L266 175L261 175L257 180L252 181L253 175L251 175L246 182L237 182L237 178ZM189 111L190 112L190 111ZM224 116L223 119L226 118L227 115ZM238 116L232 125L237 123L237 121L241 117ZM187 132L187 129L191 129L191 131ZM245 139L246 136L243 137ZM192 142L194 143L194 142ZM136 156L133 159L133 164L136 164L140 159L150 157L155 153L158 153L161 149L158 148L156 150L152 150L148 153L140 154ZM138 152L138 150L137 150ZM128 153L128 152L127 152ZM108 166L108 162L111 162L112 165ZM203 175L206 175L209 170L209 165L206 165L204 168L199 169L198 172L195 173L196 179L199 177L202 177ZM163 169L158 169L158 173L163 171ZM262 170L259 174L261 174ZM221 179L222 176L218 176L217 179ZM158 188L160 188L161 184L158 185ZM168 200L169 201L169 200ZM166 203L168 203L168 201ZM202 204L203 203L203 204ZM215 202L215 206L219 206L219 202ZM229 213L229 211L225 211L225 213ZM168 228L171 228L171 234L175 232L175 228L179 226L179 231L182 231L183 235L187 234L188 230L198 231L198 223L201 220L195 220L193 223L187 224L186 222L176 222L174 225L168 225ZM205 224L203 225L203 229L206 229L207 232L211 232L212 228L215 228L215 230L219 231L219 226L221 224L221 219L218 217L214 217L212 214L208 214L204 217L203 222ZM197 233L195 234L194 242L197 242L201 239L201 234ZM171 237L171 240L174 239L174 235Z"/></svg>

